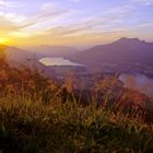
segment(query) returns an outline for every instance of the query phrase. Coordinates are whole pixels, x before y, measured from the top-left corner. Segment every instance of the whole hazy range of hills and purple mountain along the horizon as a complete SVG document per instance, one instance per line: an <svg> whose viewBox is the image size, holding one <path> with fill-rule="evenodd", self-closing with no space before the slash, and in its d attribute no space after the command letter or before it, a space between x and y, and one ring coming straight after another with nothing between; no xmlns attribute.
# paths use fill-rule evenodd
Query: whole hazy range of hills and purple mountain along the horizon
<svg viewBox="0 0 153 153"><path fill-rule="evenodd" d="M94 64L98 62L137 62L153 66L153 43L138 38L120 38L106 45L97 45L79 51L67 46L38 46L28 50L4 46L10 61L23 63L38 61L44 57L66 57L76 62Z"/></svg>

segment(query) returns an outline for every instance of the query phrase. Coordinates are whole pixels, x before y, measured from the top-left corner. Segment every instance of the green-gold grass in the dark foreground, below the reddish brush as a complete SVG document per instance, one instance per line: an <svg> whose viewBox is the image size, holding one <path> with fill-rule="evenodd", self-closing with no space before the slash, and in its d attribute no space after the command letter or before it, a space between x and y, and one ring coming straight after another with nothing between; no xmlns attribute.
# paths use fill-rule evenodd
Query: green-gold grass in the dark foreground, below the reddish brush
<svg viewBox="0 0 153 153"><path fill-rule="evenodd" d="M0 97L0 153L152 152L153 126L139 114L60 97L46 105L25 95Z"/></svg>

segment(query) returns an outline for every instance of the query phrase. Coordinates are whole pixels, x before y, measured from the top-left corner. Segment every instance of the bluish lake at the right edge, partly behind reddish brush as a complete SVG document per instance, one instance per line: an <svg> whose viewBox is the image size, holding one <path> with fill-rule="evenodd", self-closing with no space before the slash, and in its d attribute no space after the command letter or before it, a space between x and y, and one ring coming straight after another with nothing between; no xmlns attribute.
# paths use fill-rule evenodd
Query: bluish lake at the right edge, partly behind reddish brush
<svg viewBox="0 0 153 153"><path fill-rule="evenodd" d="M153 97L153 79L143 74L122 73L119 80L125 83L126 87L133 89Z"/></svg>

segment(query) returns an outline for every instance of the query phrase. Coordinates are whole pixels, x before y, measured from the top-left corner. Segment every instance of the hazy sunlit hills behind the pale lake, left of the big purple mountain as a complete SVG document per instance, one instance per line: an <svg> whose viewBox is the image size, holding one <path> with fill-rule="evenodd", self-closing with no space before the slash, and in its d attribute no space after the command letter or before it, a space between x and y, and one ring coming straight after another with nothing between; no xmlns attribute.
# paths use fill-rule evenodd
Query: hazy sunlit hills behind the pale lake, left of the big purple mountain
<svg viewBox="0 0 153 153"><path fill-rule="evenodd" d="M78 50L66 46L39 46L35 48L21 49L12 46L0 45L5 50L8 60L16 63L28 62L30 60L39 60L44 57L69 57L73 56Z"/></svg>

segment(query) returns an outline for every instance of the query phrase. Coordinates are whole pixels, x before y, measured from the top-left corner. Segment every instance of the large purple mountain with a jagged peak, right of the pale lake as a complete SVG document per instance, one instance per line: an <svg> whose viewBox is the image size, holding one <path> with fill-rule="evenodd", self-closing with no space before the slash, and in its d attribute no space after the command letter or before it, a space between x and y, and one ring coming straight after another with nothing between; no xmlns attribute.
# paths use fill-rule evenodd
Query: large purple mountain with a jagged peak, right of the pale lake
<svg viewBox="0 0 153 153"><path fill-rule="evenodd" d="M153 66L153 43L123 37L111 44L97 45L76 52L73 60L89 64L123 61Z"/></svg>

